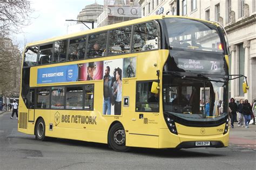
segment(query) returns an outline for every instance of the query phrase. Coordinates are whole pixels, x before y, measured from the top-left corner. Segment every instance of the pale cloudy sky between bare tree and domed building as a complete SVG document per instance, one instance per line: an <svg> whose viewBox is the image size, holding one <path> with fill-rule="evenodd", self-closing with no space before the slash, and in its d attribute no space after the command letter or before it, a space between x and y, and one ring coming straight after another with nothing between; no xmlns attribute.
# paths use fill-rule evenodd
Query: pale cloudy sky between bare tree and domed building
<svg viewBox="0 0 256 170"><path fill-rule="evenodd" d="M13 43L23 50L25 44L67 34L66 19L77 19L77 15L86 5L95 0L30 0L31 8L35 10L30 16L31 24L22 28L23 33L12 37ZM104 0L96 0L103 5Z"/></svg>

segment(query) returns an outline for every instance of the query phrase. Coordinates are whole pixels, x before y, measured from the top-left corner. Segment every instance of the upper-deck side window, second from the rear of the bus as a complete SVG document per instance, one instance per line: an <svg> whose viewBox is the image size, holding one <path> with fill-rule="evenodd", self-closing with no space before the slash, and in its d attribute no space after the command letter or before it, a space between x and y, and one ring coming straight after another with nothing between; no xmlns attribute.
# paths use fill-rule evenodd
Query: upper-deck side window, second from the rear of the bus
<svg viewBox="0 0 256 170"><path fill-rule="evenodd" d="M52 44L40 46L38 65L51 63Z"/></svg>

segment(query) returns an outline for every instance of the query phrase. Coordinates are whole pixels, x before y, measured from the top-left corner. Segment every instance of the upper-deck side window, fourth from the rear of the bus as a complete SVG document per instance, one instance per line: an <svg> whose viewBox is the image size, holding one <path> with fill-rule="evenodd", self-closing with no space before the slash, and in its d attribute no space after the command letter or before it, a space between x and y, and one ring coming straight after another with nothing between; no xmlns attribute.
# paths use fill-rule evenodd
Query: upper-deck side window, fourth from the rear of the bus
<svg viewBox="0 0 256 170"><path fill-rule="evenodd" d="M86 48L86 37L71 39L69 41L69 55L68 60L84 59Z"/></svg>

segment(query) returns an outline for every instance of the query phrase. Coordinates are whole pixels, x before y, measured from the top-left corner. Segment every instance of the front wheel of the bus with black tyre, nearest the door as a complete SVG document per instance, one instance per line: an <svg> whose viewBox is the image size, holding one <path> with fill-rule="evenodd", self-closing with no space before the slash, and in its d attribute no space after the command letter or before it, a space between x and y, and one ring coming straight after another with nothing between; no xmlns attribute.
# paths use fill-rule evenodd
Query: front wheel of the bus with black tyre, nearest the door
<svg viewBox="0 0 256 170"><path fill-rule="evenodd" d="M130 147L125 146L125 131L121 124L114 124L109 131L109 146L118 152L127 152Z"/></svg>

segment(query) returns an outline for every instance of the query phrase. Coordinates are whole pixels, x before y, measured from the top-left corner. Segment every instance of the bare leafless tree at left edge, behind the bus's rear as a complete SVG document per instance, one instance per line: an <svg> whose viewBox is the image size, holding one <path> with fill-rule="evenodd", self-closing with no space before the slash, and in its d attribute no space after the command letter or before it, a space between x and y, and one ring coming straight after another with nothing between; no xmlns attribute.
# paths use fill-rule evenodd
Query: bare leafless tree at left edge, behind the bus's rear
<svg viewBox="0 0 256 170"><path fill-rule="evenodd" d="M0 0L0 94L17 96L21 77L21 52L9 38L30 24L33 12L27 0Z"/></svg>

